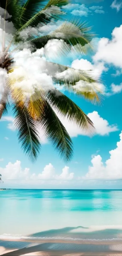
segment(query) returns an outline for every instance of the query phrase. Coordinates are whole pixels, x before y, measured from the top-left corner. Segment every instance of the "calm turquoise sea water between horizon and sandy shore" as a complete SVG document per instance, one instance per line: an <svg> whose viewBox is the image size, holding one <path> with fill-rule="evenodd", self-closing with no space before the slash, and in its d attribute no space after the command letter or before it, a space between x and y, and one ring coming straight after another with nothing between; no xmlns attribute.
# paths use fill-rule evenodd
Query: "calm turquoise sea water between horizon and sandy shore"
<svg viewBox="0 0 122 256"><path fill-rule="evenodd" d="M122 239L122 190L0 191L0 238Z"/></svg>

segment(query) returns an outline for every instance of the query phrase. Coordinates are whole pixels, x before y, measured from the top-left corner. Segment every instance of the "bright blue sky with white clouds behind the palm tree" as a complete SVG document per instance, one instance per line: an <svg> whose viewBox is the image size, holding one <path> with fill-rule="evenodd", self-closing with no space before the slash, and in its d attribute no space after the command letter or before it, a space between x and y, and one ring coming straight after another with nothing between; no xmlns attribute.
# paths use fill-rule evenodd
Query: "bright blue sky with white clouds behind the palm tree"
<svg viewBox="0 0 122 256"><path fill-rule="evenodd" d="M107 87L107 95L102 100L101 106L95 106L74 94L65 92L86 114L90 113L89 117L94 122L96 135L90 138L82 135L83 132L75 126L66 124L74 144L74 157L71 162L65 163L61 160L58 153L44 139L38 160L32 164L18 144L17 134L13 129L12 113L9 111L0 121L0 173L5 181L1 186L121 189L122 141L119 136L122 130L121 7L121 2L112 0L79 0L65 7L68 19L78 18L83 22L87 21L97 34L98 44L94 56L75 56L61 60L61 63L72 67L74 65L76 68L82 68L85 64L86 67L93 65L94 69L100 69L103 83ZM112 31L114 31L113 35ZM84 63L85 59L87 60Z"/></svg>

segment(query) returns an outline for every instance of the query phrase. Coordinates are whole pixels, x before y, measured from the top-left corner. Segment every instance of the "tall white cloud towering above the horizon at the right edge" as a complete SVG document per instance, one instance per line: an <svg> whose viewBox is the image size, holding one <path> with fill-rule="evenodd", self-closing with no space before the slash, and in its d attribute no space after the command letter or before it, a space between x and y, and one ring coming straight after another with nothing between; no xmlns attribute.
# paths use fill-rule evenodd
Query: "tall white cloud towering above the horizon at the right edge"
<svg viewBox="0 0 122 256"><path fill-rule="evenodd" d="M122 179L122 132L120 133L120 141L117 142L117 147L109 151L110 158L105 164L100 155L94 156L91 160L92 166L89 166L89 171L82 177L84 179L93 180L119 180Z"/></svg>

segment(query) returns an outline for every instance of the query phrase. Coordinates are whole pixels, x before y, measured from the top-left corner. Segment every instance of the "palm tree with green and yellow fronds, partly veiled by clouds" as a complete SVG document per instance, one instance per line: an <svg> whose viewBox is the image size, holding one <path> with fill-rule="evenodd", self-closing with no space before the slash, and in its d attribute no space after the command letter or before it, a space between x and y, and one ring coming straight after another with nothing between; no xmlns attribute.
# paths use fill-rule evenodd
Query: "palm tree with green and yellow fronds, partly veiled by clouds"
<svg viewBox="0 0 122 256"><path fill-rule="evenodd" d="M96 86L100 81L91 75L91 70L75 70L57 63L48 62L54 67L55 73L51 74L54 88L44 90L35 87L34 92L28 97L23 88L15 86L24 81L22 77L13 78L15 66L14 52L21 51L31 45L31 52L42 49L49 40L58 39L65 42L60 54L66 54L67 49L74 47L75 51L85 53L86 45L91 47L94 34L91 28L80 21L63 20L62 5L68 4L68 0L49 0L46 5L42 0L1 0L1 8L5 9L5 20L14 24L15 33L8 44L5 41L5 22L3 27L3 41L0 52L0 70L6 71L7 78L2 88L0 100L0 118L8 111L9 105L13 106L15 126L18 129L18 139L22 143L23 150L35 160L40 150L38 126L41 125L60 156L70 160L73 153L71 138L57 116L57 112L74 121L82 129L93 131L94 125L87 115L67 96L59 92L57 85L64 86L70 92L84 97L92 102L99 102L99 94L103 91ZM61 21L53 31L41 31L39 26L47 26L53 22ZM58 22L57 22L58 24ZM35 33L36 31L36 33ZM23 34L26 37L23 37ZM30 49L31 49L30 46ZM29 46L28 46L29 47ZM66 56L66 55L65 55ZM56 72L57 71L57 72ZM71 76L68 74L71 74ZM82 86L77 87L77 82L82 81ZM17 83L16 83L17 82ZM10 100L10 104L9 104ZM56 111L57 112L56 112Z"/></svg>

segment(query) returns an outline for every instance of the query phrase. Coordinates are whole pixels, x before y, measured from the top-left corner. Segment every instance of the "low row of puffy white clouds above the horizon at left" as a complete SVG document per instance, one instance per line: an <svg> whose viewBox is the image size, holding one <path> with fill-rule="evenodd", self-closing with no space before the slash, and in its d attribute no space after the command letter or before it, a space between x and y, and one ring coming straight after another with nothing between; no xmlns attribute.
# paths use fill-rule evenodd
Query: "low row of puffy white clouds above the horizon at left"
<svg viewBox="0 0 122 256"><path fill-rule="evenodd" d="M2 160L1 160L2 161ZM9 162L5 168L0 167L2 179L6 181L22 182L22 181L70 181L74 178L74 173L69 171L69 167L65 166L60 175L57 174L51 163L45 166L41 173L31 173L29 168L22 168L21 161L16 161L14 164Z"/></svg>

